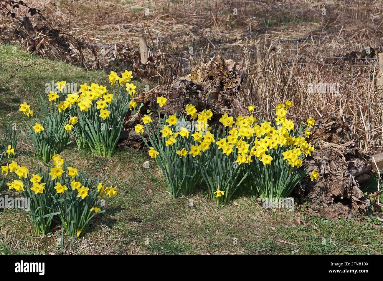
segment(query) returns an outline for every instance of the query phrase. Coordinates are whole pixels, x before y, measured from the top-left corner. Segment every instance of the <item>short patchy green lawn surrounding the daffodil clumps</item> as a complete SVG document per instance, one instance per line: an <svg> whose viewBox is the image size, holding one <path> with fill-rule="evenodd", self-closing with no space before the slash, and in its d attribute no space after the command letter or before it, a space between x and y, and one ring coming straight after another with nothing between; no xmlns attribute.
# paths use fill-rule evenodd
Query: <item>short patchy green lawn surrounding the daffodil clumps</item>
<svg viewBox="0 0 383 281"><path fill-rule="evenodd" d="M26 101L38 110L39 94L51 81L108 85L102 71L86 71L62 62L30 56L21 48L0 46L0 123L24 130L32 120L18 111ZM142 89L144 83L136 83ZM31 155L19 133L16 161L34 171L46 164ZM90 178L117 186L106 198L106 213L93 219L78 239L61 241L54 222L45 237L35 236L20 209L0 209L0 253L18 254L382 254L381 223L329 221L304 215L304 210L263 209L247 195L227 206L211 202L203 187L194 195L170 198L159 167L146 154L118 149L110 159L79 151L74 143L60 153L64 161ZM149 160L149 168L143 163ZM7 159L3 160L5 164ZM14 175L0 175L11 181ZM16 196L10 190L5 195ZM193 204L191 204L193 203ZM28 213L26 213L28 216Z"/></svg>

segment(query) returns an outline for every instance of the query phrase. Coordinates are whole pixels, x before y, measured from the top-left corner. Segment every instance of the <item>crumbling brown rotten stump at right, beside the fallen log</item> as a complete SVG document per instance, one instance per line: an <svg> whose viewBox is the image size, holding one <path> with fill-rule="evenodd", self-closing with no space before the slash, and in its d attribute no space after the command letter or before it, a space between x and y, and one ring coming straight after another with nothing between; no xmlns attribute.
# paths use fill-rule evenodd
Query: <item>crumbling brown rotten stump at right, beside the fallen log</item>
<svg viewBox="0 0 383 281"><path fill-rule="evenodd" d="M316 169L319 179L311 181L309 174L296 188L300 200L310 203L309 214L337 219L366 214L370 200L359 184L370 177L372 163L367 153L358 148L357 140L340 118L323 117L316 122L309 141L315 153L306 158L309 173Z"/></svg>

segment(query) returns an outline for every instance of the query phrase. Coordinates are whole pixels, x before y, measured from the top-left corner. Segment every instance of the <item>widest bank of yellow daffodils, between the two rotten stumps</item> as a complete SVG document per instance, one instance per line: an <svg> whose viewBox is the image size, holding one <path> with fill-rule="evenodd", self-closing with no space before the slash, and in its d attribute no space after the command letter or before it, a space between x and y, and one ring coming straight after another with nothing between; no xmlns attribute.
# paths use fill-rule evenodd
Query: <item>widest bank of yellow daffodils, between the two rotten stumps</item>
<svg viewBox="0 0 383 281"><path fill-rule="evenodd" d="M166 102L165 97L157 97L159 107ZM137 124L135 130L140 134L146 130L149 134L149 156L159 162L164 174L169 173L172 195L180 192L173 190L177 184L170 182L171 175L177 169L190 169L190 159L196 159L196 168L188 171L187 176L193 178L201 173L212 199L218 198L218 203L228 202L240 185L261 197L288 197L306 174L301 169L303 157L315 150L307 141L314 119L310 117L307 126L297 126L287 117L291 106L291 101L278 104L275 117L270 121L257 122L252 114L236 118L224 114L219 126L210 126L211 110L198 112L195 106L188 104L185 113L179 117L166 116L158 124L153 123L150 115L144 115L143 125ZM249 106L250 113L254 109ZM185 160L166 162L169 158ZM179 167L169 171L175 165ZM317 179L318 175L312 174L311 178Z"/></svg>

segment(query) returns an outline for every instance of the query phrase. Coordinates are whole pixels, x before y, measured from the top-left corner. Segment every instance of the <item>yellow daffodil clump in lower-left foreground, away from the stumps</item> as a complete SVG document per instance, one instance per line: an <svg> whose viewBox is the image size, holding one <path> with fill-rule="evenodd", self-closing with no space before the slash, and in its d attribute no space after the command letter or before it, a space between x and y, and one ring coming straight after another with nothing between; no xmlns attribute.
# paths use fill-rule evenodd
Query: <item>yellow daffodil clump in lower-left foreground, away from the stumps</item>
<svg viewBox="0 0 383 281"><path fill-rule="evenodd" d="M89 180L75 167L67 166L59 154L52 156L52 167L44 172L40 167L30 175L26 166L17 162L2 166L6 175L14 172L17 180L7 182L10 190L31 198L30 213L36 234L45 235L54 216L58 216L68 236L79 236L87 231L90 219L101 210L101 200L116 196L116 187Z"/></svg>

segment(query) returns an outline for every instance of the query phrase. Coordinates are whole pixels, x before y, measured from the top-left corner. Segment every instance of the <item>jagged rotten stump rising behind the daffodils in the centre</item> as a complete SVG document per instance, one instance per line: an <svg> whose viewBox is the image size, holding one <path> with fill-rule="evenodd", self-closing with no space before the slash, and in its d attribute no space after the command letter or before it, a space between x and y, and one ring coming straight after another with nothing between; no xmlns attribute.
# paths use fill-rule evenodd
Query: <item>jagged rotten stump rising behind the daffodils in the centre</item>
<svg viewBox="0 0 383 281"><path fill-rule="evenodd" d="M158 96L167 98L167 105L160 108L160 118L165 114L180 114L188 104L196 107L198 112L211 109L213 116L210 123L218 122L222 114L232 115L235 104L238 104L237 94L243 78L242 66L232 60L225 60L221 55L211 58L208 63L196 66L187 76L175 79L170 85L157 86L151 91L139 94L134 101L142 107L124 123L121 133L121 145L130 146L136 150L143 148L141 136L134 126L142 123L144 114L151 112L151 118L158 118ZM239 106L238 106L239 107Z"/></svg>

